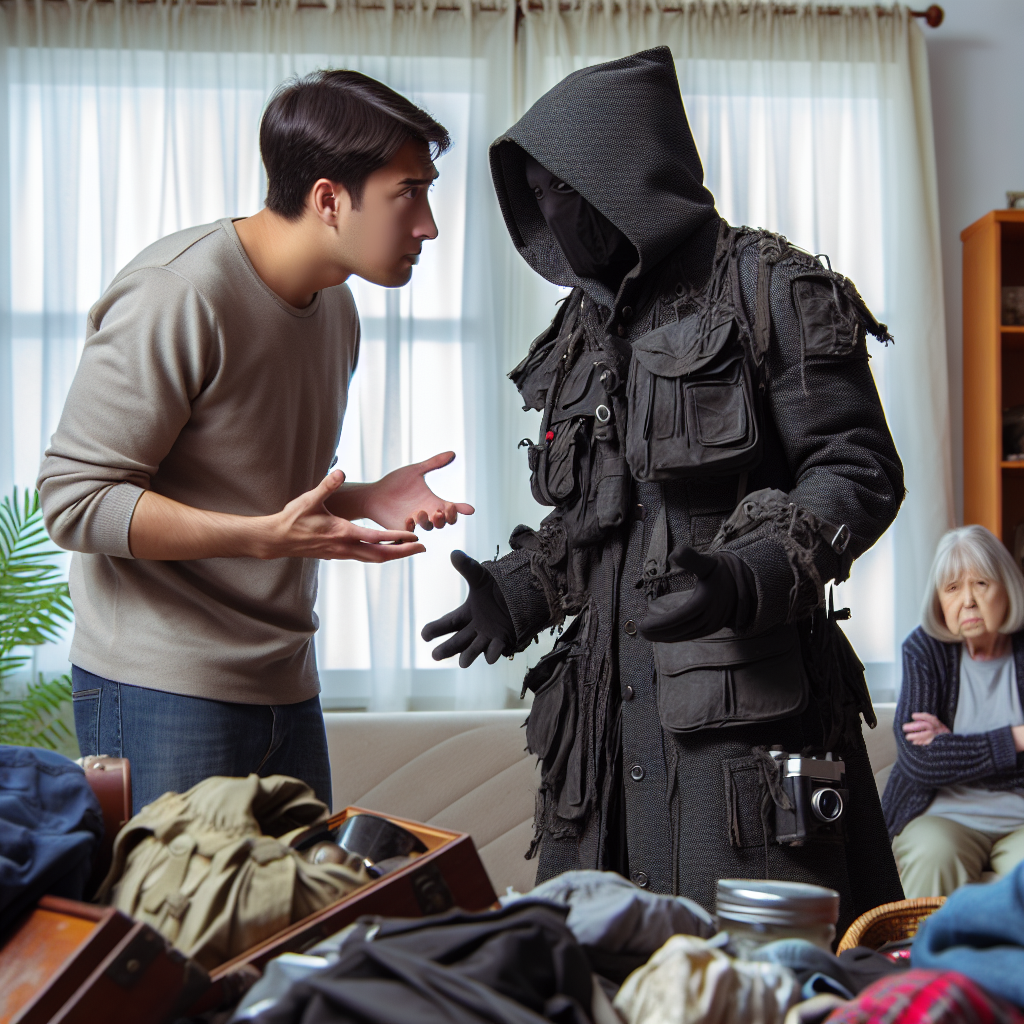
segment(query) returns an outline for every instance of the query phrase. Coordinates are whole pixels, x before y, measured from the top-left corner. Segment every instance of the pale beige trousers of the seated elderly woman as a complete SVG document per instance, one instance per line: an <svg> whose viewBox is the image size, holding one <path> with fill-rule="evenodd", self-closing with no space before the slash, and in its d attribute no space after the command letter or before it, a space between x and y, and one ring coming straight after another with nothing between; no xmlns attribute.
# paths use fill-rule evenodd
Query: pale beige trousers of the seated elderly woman
<svg viewBox="0 0 1024 1024"><path fill-rule="evenodd" d="M948 896L991 869L1008 874L1024 860L1024 827L1005 836L968 828L938 814L914 818L893 840L907 899Z"/></svg>

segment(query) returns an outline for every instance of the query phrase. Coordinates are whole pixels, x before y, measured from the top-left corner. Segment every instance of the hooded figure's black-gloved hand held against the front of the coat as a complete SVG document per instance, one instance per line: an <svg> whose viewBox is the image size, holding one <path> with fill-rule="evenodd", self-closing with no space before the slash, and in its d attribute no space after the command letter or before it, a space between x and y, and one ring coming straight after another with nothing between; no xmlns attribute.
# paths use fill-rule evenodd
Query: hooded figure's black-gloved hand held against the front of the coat
<svg viewBox="0 0 1024 1024"><path fill-rule="evenodd" d="M692 572L697 585L650 602L640 624L648 640L696 640L726 626L743 629L753 621L758 601L754 573L732 552L702 555L693 548L677 548L669 564Z"/></svg>

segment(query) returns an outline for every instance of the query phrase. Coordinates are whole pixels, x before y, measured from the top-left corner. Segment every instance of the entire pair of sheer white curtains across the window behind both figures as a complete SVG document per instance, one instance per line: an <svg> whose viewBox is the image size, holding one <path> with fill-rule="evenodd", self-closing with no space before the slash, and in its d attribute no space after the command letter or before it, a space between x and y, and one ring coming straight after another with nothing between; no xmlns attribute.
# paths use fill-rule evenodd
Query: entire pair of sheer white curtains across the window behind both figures
<svg viewBox="0 0 1024 1024"><path fill-rule="evenodd" d="M486 146L585 63L667 43L708 181L735 223L781 230L856 281L897 344L873 366L907 470L896 526L841 599L872 683L891 687L935 541L952 521L927 62L904 9L585 2L514 9L297 9L262 3L0 0L0 493L31 486L81 348L85 312L155 239L258 209L269 93L321 67L364 71L451 129L433 203L441 234L411 286L353 283L364 348L339 450L351 479L454 449L436 486L476 516L410 563L327 563L317 652L329 706L498 707L514 665L436 666L418 639L461 600L453 547L486 557L543 514L518 439L536 432L505 372L555 289L512 248ZM674 6L678 6L675 5ZM792 9L792 8L791 8ZM528 660L540 648L531 648ZM37 658L63 671L67 647Z"/></svg>

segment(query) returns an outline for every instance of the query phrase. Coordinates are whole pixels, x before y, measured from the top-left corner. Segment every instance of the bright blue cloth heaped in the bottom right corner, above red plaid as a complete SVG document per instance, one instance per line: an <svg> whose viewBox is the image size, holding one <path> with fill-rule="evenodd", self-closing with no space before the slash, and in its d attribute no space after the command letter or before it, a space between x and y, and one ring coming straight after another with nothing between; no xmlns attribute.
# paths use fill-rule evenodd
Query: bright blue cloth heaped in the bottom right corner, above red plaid
<svg viewBox="0 0 1024 1024"><path fill-rule="evenodd" d="M966 974L1024 1010L1024 862L998 882L954 892L918 930L910 961Z"/></svg>

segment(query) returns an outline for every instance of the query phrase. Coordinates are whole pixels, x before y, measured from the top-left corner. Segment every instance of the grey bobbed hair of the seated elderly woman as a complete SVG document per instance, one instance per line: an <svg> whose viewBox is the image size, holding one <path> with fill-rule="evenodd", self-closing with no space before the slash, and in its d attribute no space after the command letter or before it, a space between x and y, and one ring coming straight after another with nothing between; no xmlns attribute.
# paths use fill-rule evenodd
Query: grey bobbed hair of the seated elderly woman
<svg viewBox="0 0 1024 1024"><path fill-rule="evenodd" d="M1021 567L998 538L984 526L961 526L945 534L935 549L921 609L922 628L936 640L944 643L961 640L946 628L939 604L939 589L971 569L997 581L1007 592L1009 607L999 633L1016 633L1024 627L1024 573Z"/></svg>

